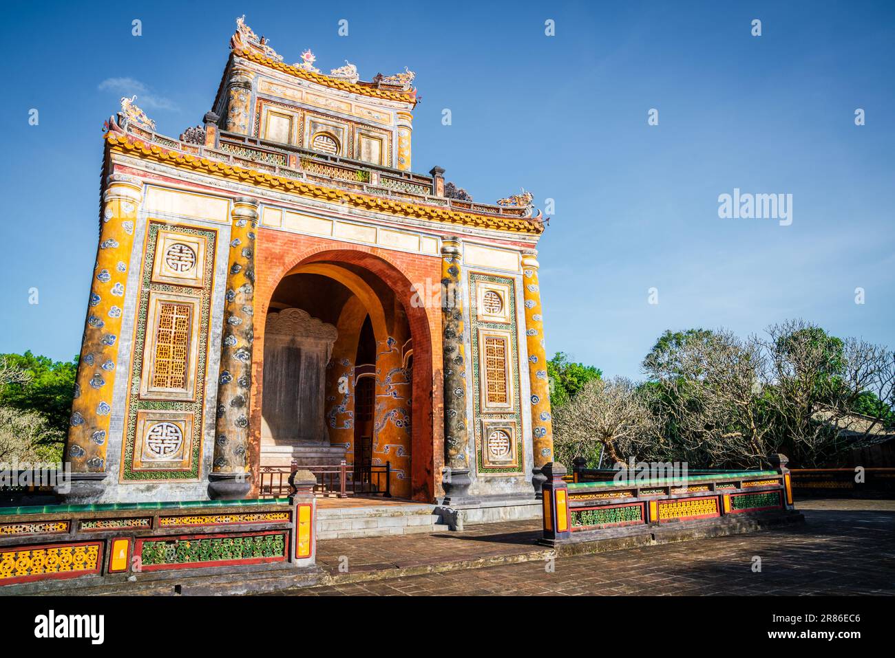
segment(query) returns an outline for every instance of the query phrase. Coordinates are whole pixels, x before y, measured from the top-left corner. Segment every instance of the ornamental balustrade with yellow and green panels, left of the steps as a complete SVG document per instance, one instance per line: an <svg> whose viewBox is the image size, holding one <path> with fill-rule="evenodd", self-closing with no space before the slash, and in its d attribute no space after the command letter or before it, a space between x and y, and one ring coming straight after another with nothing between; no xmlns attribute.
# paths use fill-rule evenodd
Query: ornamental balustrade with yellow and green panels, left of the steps
<svg viewBox="0 0 895 658"><path fill-rule="evenodd" d="M0 508L0 588L315 569L316 480L305 471L290 479L291 495L275 500Z"/></svg>

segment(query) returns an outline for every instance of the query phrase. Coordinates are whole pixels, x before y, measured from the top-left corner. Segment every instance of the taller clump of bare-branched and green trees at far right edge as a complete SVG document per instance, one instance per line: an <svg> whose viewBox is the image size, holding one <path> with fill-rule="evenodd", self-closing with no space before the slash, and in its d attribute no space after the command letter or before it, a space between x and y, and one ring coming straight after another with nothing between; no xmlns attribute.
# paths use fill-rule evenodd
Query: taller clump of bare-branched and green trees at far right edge
<svg viewBox="0 0 895 658"><path fill-rule="evenodd" d="M891 422L891 350L804 320L766 334L741 340L690 329L656 342L644 372L676 460L739 468L785 452L794 463L820 465Z"/></svg>

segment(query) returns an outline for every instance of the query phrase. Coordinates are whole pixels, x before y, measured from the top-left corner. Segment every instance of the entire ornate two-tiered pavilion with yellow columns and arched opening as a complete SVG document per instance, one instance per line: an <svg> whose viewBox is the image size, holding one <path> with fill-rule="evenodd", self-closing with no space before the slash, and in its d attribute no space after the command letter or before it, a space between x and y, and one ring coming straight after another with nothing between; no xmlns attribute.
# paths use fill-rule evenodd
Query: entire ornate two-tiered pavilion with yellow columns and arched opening
<svg viewBox="0 0 895 658"><path fill-rule="evenodd" d="M230 46L202 125L163 136L135 97L107 122L70 500L245 498L345 460L399 498L533 501L532 195L413 172L413 72L288 64L243 19Z"/></svg>

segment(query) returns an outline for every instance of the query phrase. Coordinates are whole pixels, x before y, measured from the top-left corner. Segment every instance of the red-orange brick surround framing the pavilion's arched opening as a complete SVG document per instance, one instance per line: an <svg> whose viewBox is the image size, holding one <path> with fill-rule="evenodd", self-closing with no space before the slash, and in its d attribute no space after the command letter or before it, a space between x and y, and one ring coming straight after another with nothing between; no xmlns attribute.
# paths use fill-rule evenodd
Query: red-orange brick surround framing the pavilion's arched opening
<svg viewBox="0 0 895 658"><path fill-rule="evenodd" d="M264 326L270 301L277 284L290 272L300 266L327 262L360 267L375 275L404 308L413 339L411 495L414 500L433 502L441 493L440 477L436 476L443 459L440 312L411 300L414 284L439 282L440 258L264 228L259 231L257 249L249 446L252 494L257 495L259 485Z"/></svg>

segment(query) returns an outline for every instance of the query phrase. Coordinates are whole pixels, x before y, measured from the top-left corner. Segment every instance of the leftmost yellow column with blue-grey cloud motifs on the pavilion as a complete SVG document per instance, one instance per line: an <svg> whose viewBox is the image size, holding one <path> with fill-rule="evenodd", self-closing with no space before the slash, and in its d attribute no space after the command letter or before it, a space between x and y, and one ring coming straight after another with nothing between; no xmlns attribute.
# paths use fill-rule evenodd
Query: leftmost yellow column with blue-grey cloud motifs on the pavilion
<svg viewBox="0 0 895 658"><path fill-rule="evenodd" d="M66 493L70 502L86 502L103 490L124 291L142 190L138 179L113 174L108 177L103 195L105 206L99 224L97 264L90 285L72 420L65 445L64 459L72 469L72 489Z"/></svg>

